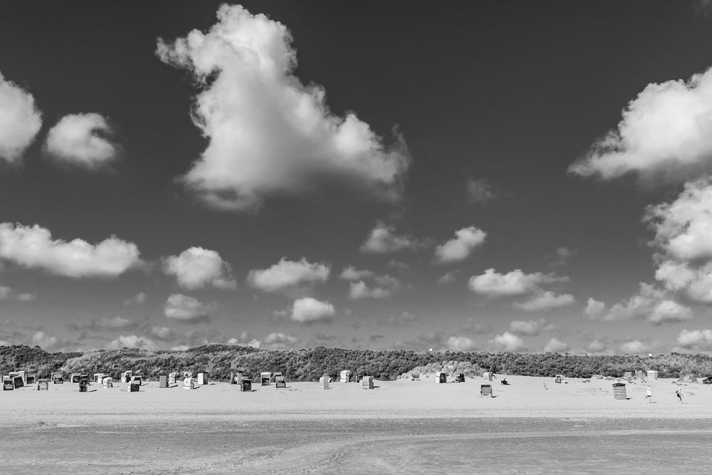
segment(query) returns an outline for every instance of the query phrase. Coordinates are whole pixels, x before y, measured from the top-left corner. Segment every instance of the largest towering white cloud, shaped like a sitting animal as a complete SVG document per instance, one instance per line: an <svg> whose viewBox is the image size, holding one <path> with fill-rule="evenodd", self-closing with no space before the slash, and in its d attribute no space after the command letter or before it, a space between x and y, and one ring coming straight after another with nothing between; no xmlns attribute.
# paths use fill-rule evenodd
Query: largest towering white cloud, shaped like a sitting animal
<svg viewBox="0 0 712 475"><path fill-rule="evenodd" d="M157 46L161 61L190 71L202 88L194 124L209 144L183 177L187 187L225 209L335 183L399 197L409 164L402 139L385 147L355 113L332 113L322 87L303 85L283 24L241 6L221 6L217 17L206 33Z"/></svg>

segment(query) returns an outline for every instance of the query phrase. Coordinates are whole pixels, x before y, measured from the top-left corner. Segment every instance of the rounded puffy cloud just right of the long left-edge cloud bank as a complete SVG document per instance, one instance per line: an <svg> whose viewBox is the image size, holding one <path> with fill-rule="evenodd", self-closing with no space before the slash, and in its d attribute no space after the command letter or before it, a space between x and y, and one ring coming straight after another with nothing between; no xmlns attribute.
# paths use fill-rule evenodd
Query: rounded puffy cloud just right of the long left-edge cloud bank
<svg viewBox="0 0 712 475"><path fill-rule="evenodd" d="M175 276L180 286L191 290L204 287L237 288L230 264L210 249L191 247L178 256L169 256L163 261L163 271Z"/></svg>

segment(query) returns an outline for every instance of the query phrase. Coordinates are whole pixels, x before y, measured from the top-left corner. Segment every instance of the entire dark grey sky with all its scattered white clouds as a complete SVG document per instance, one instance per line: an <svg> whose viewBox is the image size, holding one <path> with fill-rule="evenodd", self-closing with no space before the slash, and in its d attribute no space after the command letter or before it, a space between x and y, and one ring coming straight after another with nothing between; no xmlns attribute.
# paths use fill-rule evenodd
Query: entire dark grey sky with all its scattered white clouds
<svg viewBox="0 0 712 475"><path fill-rule="evenodd" d="M0 345L712 353L708 1L0 4Z"/></svg>

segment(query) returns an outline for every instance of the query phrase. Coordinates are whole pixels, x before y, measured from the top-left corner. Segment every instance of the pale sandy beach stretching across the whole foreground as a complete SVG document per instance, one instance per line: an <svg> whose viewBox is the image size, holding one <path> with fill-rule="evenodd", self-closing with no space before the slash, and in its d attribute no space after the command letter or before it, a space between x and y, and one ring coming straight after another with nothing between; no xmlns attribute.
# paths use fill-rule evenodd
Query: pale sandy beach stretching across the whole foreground
<svg viewBox="0 0 712 475"><path fill-rule="evenodd" d="M712 386L508 376L436 384L211 383L140 392L50 384L0 392L10 473L708 473ZM544 390L544 384L548 390Z"/></svg>

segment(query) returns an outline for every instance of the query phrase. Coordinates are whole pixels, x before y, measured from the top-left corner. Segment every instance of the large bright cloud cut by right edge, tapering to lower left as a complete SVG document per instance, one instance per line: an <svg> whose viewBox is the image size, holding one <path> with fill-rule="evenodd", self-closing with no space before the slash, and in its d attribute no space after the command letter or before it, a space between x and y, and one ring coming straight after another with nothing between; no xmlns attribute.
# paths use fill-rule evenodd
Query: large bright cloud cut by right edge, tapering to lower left
<svg viewBox="0 0 712 475"><path fill-rule="evenodd" d="M712 72L649 84L623 111L617 130L595 142L570 171L603 179L634 172L675 181L712 169Z"/></svg>

